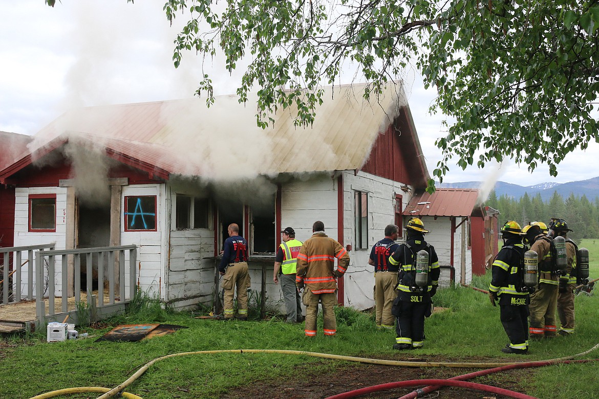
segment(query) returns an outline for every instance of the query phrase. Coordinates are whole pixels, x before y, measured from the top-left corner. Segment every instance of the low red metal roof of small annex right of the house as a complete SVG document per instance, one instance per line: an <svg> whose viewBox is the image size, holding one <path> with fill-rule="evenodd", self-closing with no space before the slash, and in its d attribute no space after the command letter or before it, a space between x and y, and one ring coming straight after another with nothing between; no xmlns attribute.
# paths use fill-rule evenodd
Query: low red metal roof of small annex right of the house
<svg viewBox="0 0 599 399"><path fill-rule="evenodd" d="M414 194L404 209L409 216L482 216L479 190L473 188L437 188L434 193Z"/></svg>

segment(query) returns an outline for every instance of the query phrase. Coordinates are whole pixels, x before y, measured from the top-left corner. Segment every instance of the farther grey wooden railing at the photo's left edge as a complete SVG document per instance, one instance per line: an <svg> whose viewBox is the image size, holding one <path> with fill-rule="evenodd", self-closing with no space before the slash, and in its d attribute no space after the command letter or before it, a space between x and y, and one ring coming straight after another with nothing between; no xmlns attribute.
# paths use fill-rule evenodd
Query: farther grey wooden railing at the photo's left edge
<svg viewBox="0 0 599 399"><path fill-rule="evenodd" d="M0 248L0 256L4 260L4 272L0 276L2 284L2 303L13 303L23 300L22 267L27 266L27 299L34 299L34 251L54 249L55 242L41 245L10 246ZM27 260L23 262L23 252L27 252ZM13 255L13 267L10 267L10 255ZM39 281L39 280L38 280ZM10 293L12 296L9 296Z"/></svg>

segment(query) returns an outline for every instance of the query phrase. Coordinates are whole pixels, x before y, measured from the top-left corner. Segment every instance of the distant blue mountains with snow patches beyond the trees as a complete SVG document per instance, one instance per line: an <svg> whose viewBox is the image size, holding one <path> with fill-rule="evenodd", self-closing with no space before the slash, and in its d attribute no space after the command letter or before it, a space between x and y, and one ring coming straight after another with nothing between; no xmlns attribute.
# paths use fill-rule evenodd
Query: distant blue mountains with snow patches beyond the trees
<svg viewBox="0 0 599 399"><path fill-rule="evenodd" d="M439 188L479 188L482 182L480 181L465 181L458 183L441 183L437 184ZM574 194L576 197L582 197L583 195L589 201L594 201L595 197L599 197L599 176L581 181L571 181L567 183L555 183L555 182L544 182L540 184L530 185L523 187L522 185L506 183L498 181L495 183L495 194L497 197L507 195L515 199L519 199L528 193L528 196L534 197L539 193L541 199L547 201L551 198L553 193L557 193L564 199Z"/></svg>

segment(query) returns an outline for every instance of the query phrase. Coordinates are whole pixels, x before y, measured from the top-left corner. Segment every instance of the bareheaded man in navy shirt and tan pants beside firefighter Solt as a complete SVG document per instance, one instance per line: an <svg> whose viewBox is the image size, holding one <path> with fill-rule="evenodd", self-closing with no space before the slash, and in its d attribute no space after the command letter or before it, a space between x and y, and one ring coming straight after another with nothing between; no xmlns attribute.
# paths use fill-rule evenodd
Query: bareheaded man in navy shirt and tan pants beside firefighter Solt
<svg viewBox="0 0 599 399"><path fill-rule="evenodd" d="M370 251L368 264L374 266L374 301L376 304L377 328L393 328L395 316L391 313L393 301L397 298L397 265L389 262L389 257L397 250L395 243L400 229L395 224L385 227L385 238L377 242Z"/></svg>

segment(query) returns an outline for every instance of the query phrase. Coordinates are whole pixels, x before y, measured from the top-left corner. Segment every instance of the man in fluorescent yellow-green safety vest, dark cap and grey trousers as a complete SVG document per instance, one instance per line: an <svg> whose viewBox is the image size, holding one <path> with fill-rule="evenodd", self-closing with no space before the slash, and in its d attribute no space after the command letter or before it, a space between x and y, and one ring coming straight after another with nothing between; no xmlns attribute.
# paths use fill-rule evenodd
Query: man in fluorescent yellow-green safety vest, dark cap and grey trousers
<svg viewBox="0 0 599 399"><path fill-rule="evenodd" d="M295 285L295 271L297 266L297 256L302 242L295 239L295 230L286 227L281 232L283 242L277 249L277 257L274 261L273 281L274 284L281 282L283 299L285 299L285 308L287 311L288 323L301 323L303 321L301 310L301 297Z"/></svg>

